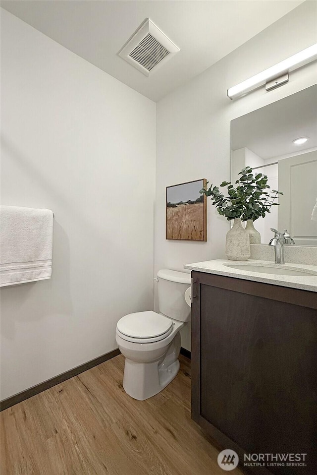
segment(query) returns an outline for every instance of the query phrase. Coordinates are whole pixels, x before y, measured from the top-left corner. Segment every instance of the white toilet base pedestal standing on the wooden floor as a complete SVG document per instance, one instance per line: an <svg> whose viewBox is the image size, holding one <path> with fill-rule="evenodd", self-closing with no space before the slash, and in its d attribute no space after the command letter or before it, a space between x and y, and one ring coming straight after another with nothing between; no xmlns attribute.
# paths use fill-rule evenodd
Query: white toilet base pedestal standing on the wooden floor
<svg viewBox="0 0 317 475"><path fill-rule="evenodd" d="M159 361L138 363L125 358L123 388L131 398L144 401L164 389L178 371L178 359L166 367L159 364Z"/></svg>

